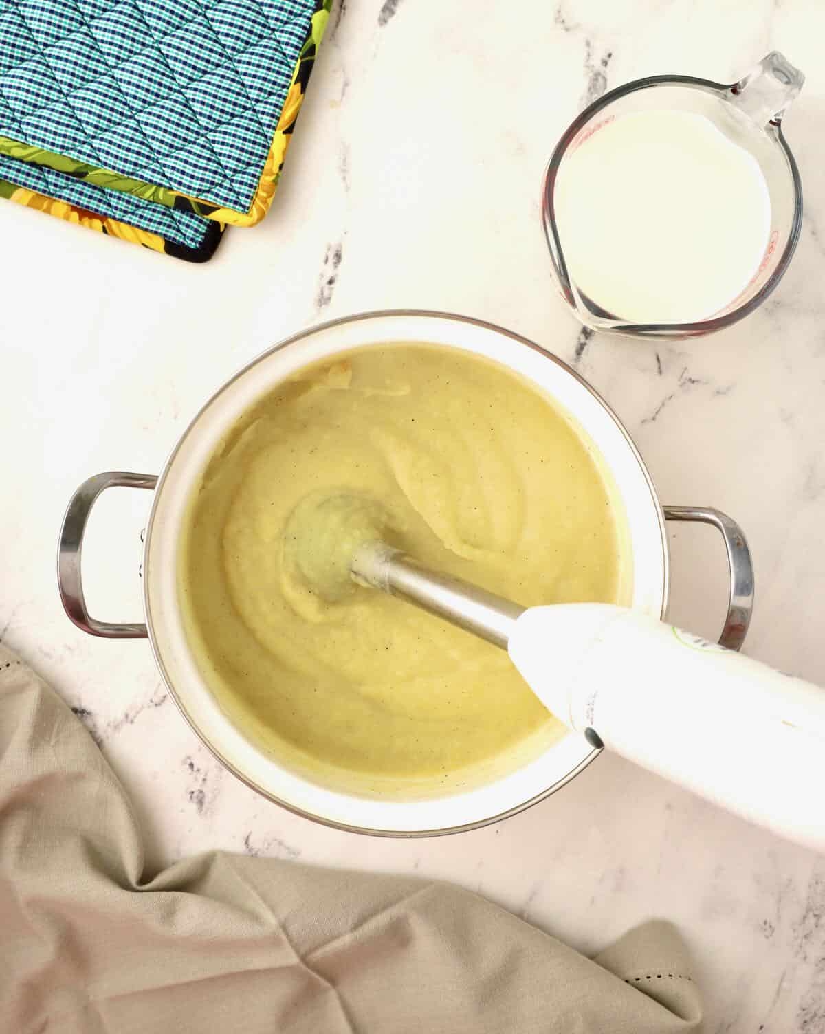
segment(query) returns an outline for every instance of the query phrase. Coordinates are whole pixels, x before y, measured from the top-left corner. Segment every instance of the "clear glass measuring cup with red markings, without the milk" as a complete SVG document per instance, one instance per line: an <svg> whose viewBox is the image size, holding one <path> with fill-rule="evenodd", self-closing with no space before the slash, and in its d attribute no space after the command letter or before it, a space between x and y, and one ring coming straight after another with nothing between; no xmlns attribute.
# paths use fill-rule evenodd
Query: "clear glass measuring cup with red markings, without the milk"
<svg viewBox="0 0 825 1034"><path fill-rule="evenodd" d="M685 338L709 334L753 312L778 283L796 248L802 220L802 184L782 132L782 118L804 75L771 51L743 79L725 85L691 75L651 75L611 90L570 125L547 165L543 218L556 283L576 316L593 330L632 337ZM724 308L695 323L623 320L589 298L571 274L554 210L554 192L567 157L616 118L648 111L704 116L758 162L770 199L770 233L762 261L744 288Z"/></svg>

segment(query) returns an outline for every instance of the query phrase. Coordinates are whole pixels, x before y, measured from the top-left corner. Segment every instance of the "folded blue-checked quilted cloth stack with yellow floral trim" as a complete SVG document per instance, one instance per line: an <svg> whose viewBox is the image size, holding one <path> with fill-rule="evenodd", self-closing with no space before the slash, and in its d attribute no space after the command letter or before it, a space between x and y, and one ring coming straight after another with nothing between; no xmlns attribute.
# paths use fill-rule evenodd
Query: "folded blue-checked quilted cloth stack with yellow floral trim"
<svg viewBox="0 0 825 1034"><path fill-rule="evenodd" d="M269 209L330 5L0 0L0 196L205 261Z"/></svg>

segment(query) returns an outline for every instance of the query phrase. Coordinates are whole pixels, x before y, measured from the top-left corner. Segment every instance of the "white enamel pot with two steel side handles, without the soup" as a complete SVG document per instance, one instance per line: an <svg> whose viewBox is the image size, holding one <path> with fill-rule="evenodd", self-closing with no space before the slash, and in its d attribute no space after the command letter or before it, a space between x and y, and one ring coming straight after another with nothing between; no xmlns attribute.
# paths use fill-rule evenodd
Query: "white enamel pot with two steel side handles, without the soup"
<svg viewBox="0 0 825 1034"><path fill-rule="evenodd" d="M297 370L338 353L393 342L460 348L494 360L550 395L589 436L614 480L627 514L633 568L633 606L662 617L668 601L666 519L713 524L725 538L731 566L731 605L721 641L738 648L750 620L753 572L736 524L706 508L663 510L650 476L628 432L607 403L560 360L499 327L437 312L389 311L313 327L266 352L228 381L201 409L175 446L159 478L115 472L96 475L74 493L61 529L58 580L68 616L92 635L148 636L169 691L189 725L215 756L258 793L317 822L378 835L457 832L520 812L570 782L600 753L586 736L570 733L517 771L476 789L427 800L381 800L335 792L278 764L230 722L200 674L184 635L176 560L190 493L214 448L236 420ZM143 560L146 625L92 618L81 580L81 545L95 498L111 486L154 490Z"/></svg>

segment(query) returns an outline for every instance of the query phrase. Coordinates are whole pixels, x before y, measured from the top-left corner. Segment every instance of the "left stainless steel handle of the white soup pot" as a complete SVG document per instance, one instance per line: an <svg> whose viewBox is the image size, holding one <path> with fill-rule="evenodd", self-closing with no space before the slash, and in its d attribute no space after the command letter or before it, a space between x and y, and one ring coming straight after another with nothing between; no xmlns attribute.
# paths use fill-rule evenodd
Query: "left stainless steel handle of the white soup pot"
<svg viewBox="0 0 825 1034"><path fill-rule="evenodd" d="M57 550L57 584L63 609L71 620L92 636L106 639L146 639L146 626L141 622L117 624L98 621L86 609L81 577L81 551L86 522L97 496L106 488L149 488L157 484L151 474L129 474L126 470L109 470L96 474L81 485L71 496L63 525L60 528L60 543Z"/></svg>

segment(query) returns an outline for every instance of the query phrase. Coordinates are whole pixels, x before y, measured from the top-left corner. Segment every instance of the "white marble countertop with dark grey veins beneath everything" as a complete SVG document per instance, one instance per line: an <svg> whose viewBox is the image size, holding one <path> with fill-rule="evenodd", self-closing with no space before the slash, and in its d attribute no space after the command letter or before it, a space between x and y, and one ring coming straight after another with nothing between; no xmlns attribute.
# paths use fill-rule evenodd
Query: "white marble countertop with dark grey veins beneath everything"
<svg viewBox="0 0 825 1034"><path fill-rule="evenodd" d="M57 597L70 492L157 472L249 357L313 321L415 306L500 323L577 364L618 409L666 503L734 515L756 560L746 650L825 683L825 6L820 0L346 0L268 220L206 267L0 204L0 637L101 742L150 865L225 848L446 877L594 950L652 915L699 960L713 1034L825 1031L825 859L615 758L501 825L441 840L347 835L223 772L160 688L145 642L77 631ZM806 193L793 266L715 338L589 341L550 283L544 162L605 88L655 72L730 81L776 47L807 73L786 120ZM90 528L91 602L139 619L148 493L108 493ZM671 615L716 631L712 533L671 531Z"/></svg>

